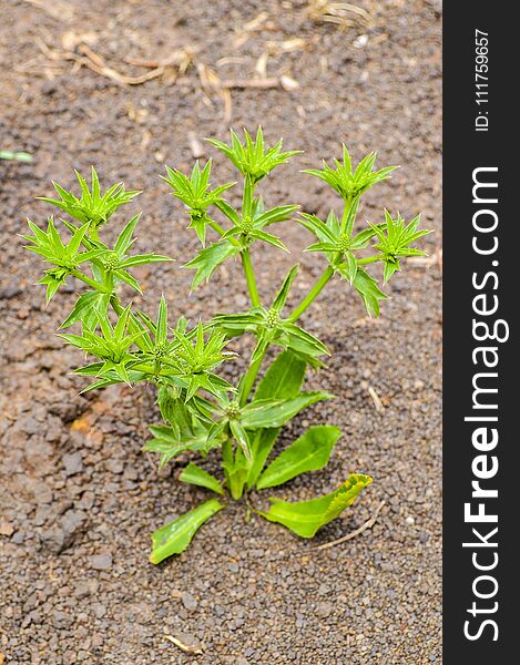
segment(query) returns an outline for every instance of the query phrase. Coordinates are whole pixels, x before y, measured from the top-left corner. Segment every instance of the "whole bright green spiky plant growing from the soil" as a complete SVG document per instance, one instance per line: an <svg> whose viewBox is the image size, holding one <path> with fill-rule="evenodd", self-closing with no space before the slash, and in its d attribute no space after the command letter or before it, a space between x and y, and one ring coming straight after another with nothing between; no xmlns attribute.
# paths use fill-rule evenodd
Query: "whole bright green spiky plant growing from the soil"
<svg viewBox="0 0 520 665"><path fill-rule="evenodd" d="M267 208L257 194L257 186L276 166L297 153L282 152L282 142L266 147L261 129L254 140L245 132L242 142L232 132L231 146L220 141L211 143L241 173L239 206L233 206L223 196L234 183L211 188L211 162L203 168L196 163L188 176L166 168L164 180L172 194L186 206L188 225L202 244L196 257L185 264L195 270L193 288L207 282L225 260L239 257L251 298L246 311L218 314L206 324L198 321L190 327L183 317L174 325L170 323L164 296L156 318L132 307L131 303L122 304L121 283L140 291L139 282L131 274L134 266L169 259L162 255L131 253L139 215L124 226L113 247L100 239L99 231L112 213L137 192L125 192L119 184L101 195L93 168L90 188L77 174L81 198L57 184L60 198L43 198L72 217L73 222L62 221L63 233L69 234L67 242L52 218L47 231L29 222L33 235L23 236L30 243L28 248L52 266L40 280L47 285L48 300L70 278L88 287L61 325L61 328L78 327L75 334L61 334L61 337L82 349L91 360L75 370L92 378L85 390L142 381L156 387L164 423L150 427L153 438L144 449L160 456L160 467L186 451L203 458L212 450L222 451L222 481L194 462L181 473L181 481L206 488L218 498L156 531L152 536L153 563L185 550L196 530L224 508L227 494L239 500L252 490L273 488L325 467L340 437L338 428L327 424L310 427L268 463L283 426L310 405L333 398L326 391L303 389L306 368L324 366L329 352L323 341L297 321L334 276L350 284L368 314L378 316L379 303L386 296L366 266L381 263L384 282L387 282L400 269L401 256L422 254L410 248L410 244L429 233L418 231L419 217L405 225L399 215L392 218L388 212L381 223L369 223L364 231L356 232L361 195L388 177L394 167L374 171L376 155L370 153L354 170L344 147L343 163L336 162L335 168L324 163L323 170L307 172L324 180L340 195L340 218L334 212L326 221L306 213L296 217L297 223L314 234L316 242L307 250L324 255L327 264L324 273L305 298L290 309L287 299L298 270L298 266L293 266L268 300L269 305L263 305L252 249L256 243L268 243L285 250L272 229L275 224L293 219L298 206ZM216 237L206 244L208 229ZM361 256L363 250L368 250L368 256ZM220 368L234 356L228 350L230 341L245 334L254 336L256 345L246 371L232 385L221 376ZM273 347L279 352L257 380L267 351ZM350 474L329 494L300 502L272 500L269 510L256 512L303 538L312 538L350 505L370 482L369 475Z"/></svg>

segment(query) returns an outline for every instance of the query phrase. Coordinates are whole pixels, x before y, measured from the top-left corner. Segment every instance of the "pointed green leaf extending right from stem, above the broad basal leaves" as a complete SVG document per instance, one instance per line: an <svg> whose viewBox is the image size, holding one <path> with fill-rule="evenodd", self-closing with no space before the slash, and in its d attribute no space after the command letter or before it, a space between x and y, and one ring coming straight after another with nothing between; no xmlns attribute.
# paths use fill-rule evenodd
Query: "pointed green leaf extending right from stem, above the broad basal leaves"
<svg viewBox="0 0 520 665"><path fill-rule="evenodd" d="M246 429L263 427L282 427L299 413L302 409L317 401L333 399L334 395L325 390L316 392L302 392L298 397L287 400L254 400L244 407L241 422Z"/></svg>

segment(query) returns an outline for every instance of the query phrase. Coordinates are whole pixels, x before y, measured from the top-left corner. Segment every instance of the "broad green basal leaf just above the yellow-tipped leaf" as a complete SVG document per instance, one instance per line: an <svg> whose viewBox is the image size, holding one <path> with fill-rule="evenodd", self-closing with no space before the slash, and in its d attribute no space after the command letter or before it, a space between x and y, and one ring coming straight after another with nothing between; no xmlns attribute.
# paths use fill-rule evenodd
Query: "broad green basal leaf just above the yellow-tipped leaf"
<svg viewBox="0 0 520 665"><path fill-rule="evenodd" d="M323 469L340 436L341 431L337 427L318 424L309 428L271 462L256 487L258 490L273 488L306 471Z"/></svg>

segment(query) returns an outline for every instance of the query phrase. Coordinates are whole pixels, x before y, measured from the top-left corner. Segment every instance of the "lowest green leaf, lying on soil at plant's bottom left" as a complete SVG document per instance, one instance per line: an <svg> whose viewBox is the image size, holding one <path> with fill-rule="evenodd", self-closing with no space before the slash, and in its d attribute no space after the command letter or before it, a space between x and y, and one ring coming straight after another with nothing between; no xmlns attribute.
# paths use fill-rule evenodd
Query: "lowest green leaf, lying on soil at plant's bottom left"
<svg viewBox="0 0 520 665"><path fill-rule="evenodd" d="M157 564L172 554L184 552L204 522L223 508L216 499L211 499L155 531L152 534L150 562Z"/></svg>

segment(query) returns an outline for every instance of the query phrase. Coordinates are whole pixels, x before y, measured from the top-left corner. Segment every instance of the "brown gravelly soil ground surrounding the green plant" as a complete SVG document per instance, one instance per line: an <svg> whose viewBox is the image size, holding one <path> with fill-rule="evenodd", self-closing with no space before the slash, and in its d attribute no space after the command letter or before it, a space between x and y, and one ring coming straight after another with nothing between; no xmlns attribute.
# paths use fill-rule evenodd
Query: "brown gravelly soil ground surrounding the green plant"
<svg viewBox="0 0 520 665"><path fill-rule="evenodd" d="M140 249L184 260L196 241L157 172L164 162L186 168L193 136L225 139L230 124L254 129L262 122L268 139L283 135L288 147L305 150L263 185L269 203L296 202L326 214L335 197L298 168L338 156L341 141L356 158L376 149L380 164L402 167L370 191L363 214L376 219L384 206L406 216L422 211L425 226L437 229L426 238L435 257L441 222L439 3L363 2L370 25L354 14L354 24L343 28L313 21L307 7L0 1L1 147L35 156L31 165L0 162L0 663L3 656L6 663L52 665L441 661L437 262L408 266L394 278L378 321L368 320L339 283L305 315L334 354L330 371L310 376L309 385L338 399L306 411L285 439L309 422L336 423L344 437L326 470L278 494L325 493L348 472L368 472L375 481L355 509L308 543L257 518L246 523L243 505L233 505L187 552L154 567L146 561L151 531L205 494L175 481L179 467L157 477L140 451L145 424L159 420L151 392L78 395L83 382L69 371L81 357L53 336L71 296L60 293L45 308L42 289L31 286L40 265L16 236L26 216L41 222L48 214L33 197L50 192L51 177L72 185L72 167L94 163L104 182L124 180L144 191L125 211L144 211ZM296 39L305 40L303 50L292 42L299 50L281 52L279 42ZM167 71L125 88L80 66L78 40L128 75L151 71L128 58L163 60L191 47L196 63L221 80L251 80L268 51L267 75L289 76L299 86L234 89L226 100L203 89L207 69L191 66L175 82ZM75 62L62 59L74 49ZM215 156L215 180L232 175L213 150L204 152ZM283 238L295 247L293 257L274 248L254 257L264 268L259 289L266 297L295 258L302 262L297 296L323 268L318 256L300 254L309 238L299 227L286 225ZM140 277L151 309L161 289L174 311L192 318L246 304L233 265L191 296L191 276L179 263L142 269ZM313 550L361 525L381 501L371 530ZM198 645L202 655L182 653L165 635Z"/></svg>

